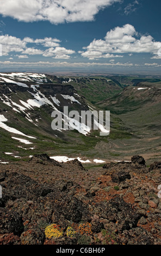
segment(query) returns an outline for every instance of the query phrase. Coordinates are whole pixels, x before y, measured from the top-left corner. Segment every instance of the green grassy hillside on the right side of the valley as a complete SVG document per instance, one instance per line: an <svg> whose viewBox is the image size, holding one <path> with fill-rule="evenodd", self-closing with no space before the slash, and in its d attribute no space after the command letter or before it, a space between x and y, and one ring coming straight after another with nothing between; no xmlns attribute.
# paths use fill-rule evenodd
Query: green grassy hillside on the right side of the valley
<svg viewBox="0 0 161 256"><path fill-rule="evenodd" d="M137 90L126 88L121 94L108 98L99 107L111 111L114 117L113 127L120 131L131 133L131 139L123 138L110 141L113 153L121 157L130 154L141 154L146 159L159 160L160 154L160 118L161 118L161 90L159 83L142 82L139 87L151 89ZM113 150L114 147L114 150Z"/></svg>

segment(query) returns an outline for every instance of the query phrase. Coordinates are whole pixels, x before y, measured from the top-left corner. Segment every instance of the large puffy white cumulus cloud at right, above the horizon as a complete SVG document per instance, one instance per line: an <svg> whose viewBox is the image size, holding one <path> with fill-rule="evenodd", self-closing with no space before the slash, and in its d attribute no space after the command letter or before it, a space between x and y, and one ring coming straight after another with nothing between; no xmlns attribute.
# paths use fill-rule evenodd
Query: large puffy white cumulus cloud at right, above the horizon
<svg viewBox="0 0 161 256"><path fill-rule="evenodd" d="M140 35L135 28L126 24L123 27L116 27L107 32L104 40L94 39L89 46L83 47L83 57L89 59L120 57L113 56L117 53L153 53L157 54L161 48L161 42L156 42L151 35Z"/></svg>

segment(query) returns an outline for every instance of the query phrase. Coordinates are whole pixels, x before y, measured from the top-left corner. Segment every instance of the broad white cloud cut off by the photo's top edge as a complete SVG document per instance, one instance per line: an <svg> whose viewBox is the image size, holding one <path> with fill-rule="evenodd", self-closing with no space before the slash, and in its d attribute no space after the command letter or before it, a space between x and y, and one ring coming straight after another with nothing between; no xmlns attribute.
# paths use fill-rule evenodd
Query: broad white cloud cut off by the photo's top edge
<svg viewBox="0 0 161 256"><path fill-rule="evenodd" d="M18 21L64 23L92 21L103 8L121 0L1 0L0 14Z"/></svg>

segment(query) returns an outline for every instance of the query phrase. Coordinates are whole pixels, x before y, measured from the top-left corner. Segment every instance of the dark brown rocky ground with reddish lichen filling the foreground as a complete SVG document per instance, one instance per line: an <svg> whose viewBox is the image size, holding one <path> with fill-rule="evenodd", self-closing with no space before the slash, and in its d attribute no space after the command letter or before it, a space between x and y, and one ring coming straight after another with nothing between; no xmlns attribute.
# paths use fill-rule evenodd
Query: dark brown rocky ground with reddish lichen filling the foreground
<svg viewBox="0 0 161 256"><path fill-rule="evenodd" d="M0 166L0 244L160 245L160 164L147 168L139 157L140 172L133 164L86 170L78 160L58 163L42 154ZM62 236L46 237L52 223Z"/></svg>

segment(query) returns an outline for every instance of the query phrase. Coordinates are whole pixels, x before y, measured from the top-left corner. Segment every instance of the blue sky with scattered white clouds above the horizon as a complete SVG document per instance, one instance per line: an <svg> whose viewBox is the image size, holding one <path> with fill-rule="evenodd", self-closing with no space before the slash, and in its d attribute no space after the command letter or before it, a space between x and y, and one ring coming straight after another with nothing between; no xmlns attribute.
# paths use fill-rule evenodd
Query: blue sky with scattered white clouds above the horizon
<svg viewBox="0 0 161 256"><path fill-rule="evenodd" d="M160 75L158 0L0 0L0 71Z"/></svg>

